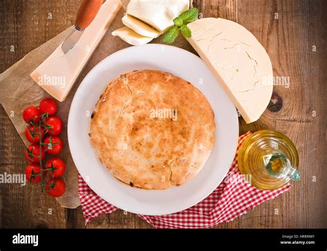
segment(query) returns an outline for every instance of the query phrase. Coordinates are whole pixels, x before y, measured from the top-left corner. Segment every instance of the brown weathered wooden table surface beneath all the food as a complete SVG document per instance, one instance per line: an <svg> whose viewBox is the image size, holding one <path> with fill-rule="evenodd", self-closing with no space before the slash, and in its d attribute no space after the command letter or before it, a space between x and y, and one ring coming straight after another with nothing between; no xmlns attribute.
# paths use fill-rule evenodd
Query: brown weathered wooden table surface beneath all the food
<svg viewBox="0 0 327 251"><path fill-rule="evenodd" d="M1 72L71 26L80 2L1 1ZM297 145L302 174L289 192L218 228L326 228L326 1L197 0L194 4L204 17L231 19L255 34L270 55L274 75L286 78L286 85L274 88L283 101L281 110L266 110L250 125L240 119L240 134L263 128L284 132ZM0 139L0 173L21 173L26 167L24 145L2 107ZM37 186L1 184L0 188L1 228L86 228L80 207L61 208ZM87 228L151 226L135 214L117 210Z"/></svg>

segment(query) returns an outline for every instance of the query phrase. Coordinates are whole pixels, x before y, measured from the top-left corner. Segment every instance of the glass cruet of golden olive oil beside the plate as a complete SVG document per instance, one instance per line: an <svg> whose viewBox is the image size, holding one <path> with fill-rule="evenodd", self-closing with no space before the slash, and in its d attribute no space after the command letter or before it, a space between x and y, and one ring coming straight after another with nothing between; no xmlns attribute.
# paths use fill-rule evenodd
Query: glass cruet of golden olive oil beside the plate
<svg viewBox="0 0 327 251"><path fill-rule="evenodd" d="M239 170L250 175L252 185L264 190L281 188L291 180L298 181L301 176L298 164L295 145L280 132L252 133L239 148Z"/></svg>

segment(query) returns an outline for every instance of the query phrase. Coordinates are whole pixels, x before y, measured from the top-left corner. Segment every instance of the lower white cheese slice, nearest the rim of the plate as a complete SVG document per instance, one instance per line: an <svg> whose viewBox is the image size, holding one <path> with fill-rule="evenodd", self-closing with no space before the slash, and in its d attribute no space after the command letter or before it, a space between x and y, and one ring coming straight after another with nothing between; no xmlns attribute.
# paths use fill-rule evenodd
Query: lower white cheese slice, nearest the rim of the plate
<svg viewBox="0 0 327 251"><path fill-rule="evenodd" d="M153 39L153 37L144 37L128 27L114 30L111 34L112 36L120 37L123 41L126 41L126 43L132 46L142 46Z"/></svg>

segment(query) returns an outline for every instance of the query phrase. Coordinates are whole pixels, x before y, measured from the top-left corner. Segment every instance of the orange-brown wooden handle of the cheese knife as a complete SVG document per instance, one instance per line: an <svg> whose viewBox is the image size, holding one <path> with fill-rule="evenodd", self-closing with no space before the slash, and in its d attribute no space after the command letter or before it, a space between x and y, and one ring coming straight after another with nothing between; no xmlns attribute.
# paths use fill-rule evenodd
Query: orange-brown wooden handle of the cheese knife
<svg viewBox="0 0 327 251"><path fill-rule="evenodd" d="M99 12L103 0L83 0L75 21L77 29L84 30L87 28Z"/></svg>

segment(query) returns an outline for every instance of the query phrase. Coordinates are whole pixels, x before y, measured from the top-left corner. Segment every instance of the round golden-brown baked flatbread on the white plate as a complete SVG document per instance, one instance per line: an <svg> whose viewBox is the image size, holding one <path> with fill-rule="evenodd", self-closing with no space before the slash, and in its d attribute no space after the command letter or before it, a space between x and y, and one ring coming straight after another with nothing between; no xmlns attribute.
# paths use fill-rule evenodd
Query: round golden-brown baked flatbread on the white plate
<svg viewBox="0 0 327 251"><path fill-rule="evenodd" d="M101 94L90 141L123 183L166 189L204 167L215 143L214 116L191 83L167 72L137 70L112 80Z"/></svg>

